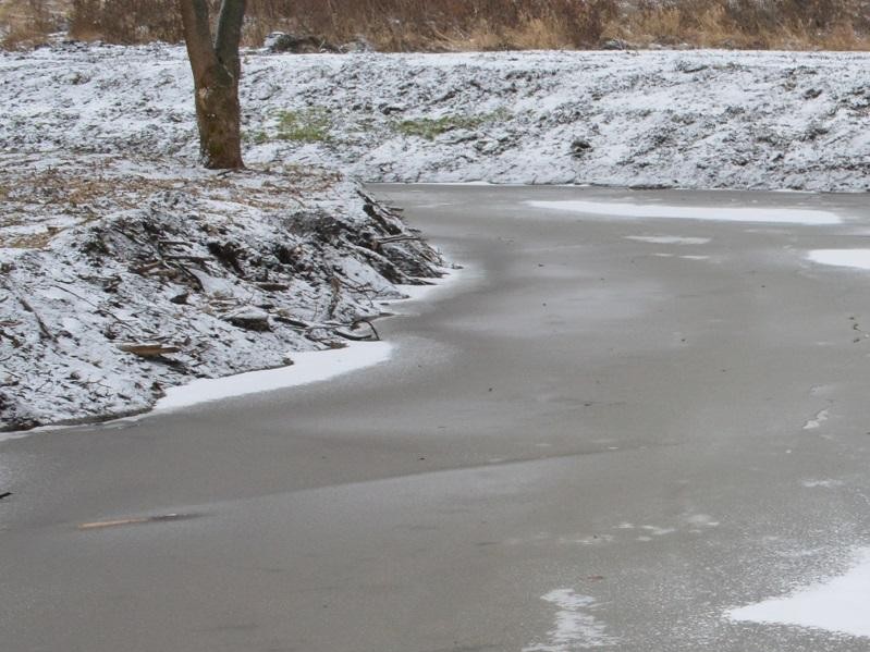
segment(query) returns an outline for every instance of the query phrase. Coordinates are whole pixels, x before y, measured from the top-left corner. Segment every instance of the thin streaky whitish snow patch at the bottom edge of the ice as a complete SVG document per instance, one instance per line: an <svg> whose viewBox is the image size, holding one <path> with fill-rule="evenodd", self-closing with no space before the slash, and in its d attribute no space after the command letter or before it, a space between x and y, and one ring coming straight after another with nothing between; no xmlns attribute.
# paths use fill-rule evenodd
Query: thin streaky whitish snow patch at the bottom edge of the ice
<svg viewBox="0 0 870 652"><path fill-rule="evenodd" d="M618 643L618 639L608 635L606 626L589 613L598 606L595 598L579 595L572 589L557 589L541 600L559 608L553 629L547 632L547 642L523 648L523 652L572 652Z"/></svg>

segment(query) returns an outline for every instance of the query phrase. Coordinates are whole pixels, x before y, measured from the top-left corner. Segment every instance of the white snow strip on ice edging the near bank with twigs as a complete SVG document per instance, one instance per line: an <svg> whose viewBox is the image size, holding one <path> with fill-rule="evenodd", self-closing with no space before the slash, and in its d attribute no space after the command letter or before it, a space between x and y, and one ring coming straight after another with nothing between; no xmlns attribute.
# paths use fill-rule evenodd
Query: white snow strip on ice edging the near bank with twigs
<svg viewBox="0 0 870 652"><path fill-rule="evenodd" d="M246 394L271 392L335 378L384 362L393 346L388 342L353 342L345 348L293 354L293 365L224 378L204 378L170 387L156 410L179 409Z"/></svg>

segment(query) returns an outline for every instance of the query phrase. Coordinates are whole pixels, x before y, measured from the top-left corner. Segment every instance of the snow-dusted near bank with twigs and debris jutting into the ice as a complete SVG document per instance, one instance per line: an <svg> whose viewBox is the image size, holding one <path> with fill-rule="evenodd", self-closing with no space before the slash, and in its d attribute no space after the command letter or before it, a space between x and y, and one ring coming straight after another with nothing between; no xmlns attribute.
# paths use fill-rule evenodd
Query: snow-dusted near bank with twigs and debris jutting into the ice
<svg viewBox="0 0 870 652"><path fill-rule="evenodd" d="M342 175L3 155L0 430L371 339L440 256ZM326 362L326 360L324 360Z"/></svg>

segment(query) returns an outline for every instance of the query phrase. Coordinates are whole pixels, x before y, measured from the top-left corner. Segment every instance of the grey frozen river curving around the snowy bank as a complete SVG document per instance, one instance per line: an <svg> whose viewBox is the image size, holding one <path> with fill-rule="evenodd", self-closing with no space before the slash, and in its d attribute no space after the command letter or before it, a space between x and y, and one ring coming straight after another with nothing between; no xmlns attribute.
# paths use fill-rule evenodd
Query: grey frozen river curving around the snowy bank
<svg viewBox="0 0 870 652"><path fill-rule="evenodd" d="M4 650L868 649L863 196L372 192L370 366L0 442Z"/></svg>

